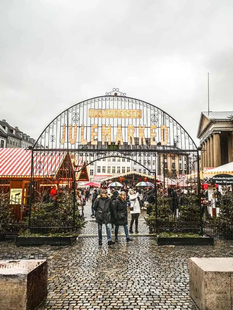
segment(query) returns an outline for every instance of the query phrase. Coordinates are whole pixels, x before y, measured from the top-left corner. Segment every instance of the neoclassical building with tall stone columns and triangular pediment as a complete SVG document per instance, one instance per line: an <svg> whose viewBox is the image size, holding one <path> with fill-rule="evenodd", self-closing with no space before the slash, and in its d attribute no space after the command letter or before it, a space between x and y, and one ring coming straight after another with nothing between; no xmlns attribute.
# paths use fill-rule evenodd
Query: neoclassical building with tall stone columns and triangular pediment
<svg viewBox="0 0 233 310"><path fill-rule="evenodd" d="M201 170L233 161L233 112L202 112L197 137L201 152Z"/></svg>

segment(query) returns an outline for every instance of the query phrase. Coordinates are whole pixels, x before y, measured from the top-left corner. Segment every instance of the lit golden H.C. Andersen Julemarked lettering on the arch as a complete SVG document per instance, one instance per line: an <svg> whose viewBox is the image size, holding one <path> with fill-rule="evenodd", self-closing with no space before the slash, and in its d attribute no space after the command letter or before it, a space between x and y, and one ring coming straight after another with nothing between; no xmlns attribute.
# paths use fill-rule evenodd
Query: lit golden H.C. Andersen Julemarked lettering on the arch
<svg viewBox="0 0 233 310"><path fill-rule="evenodd" d="M89 109L89 117L93 118L141 118L142 116L142 111L141 110L126 110L126 109ZM74 127L74 130L73 130ZM82 145L87 144L87 140L84 137L84 124L81 125L81 139L80 142ZM138 138L139 138L139 145L146 145L146 138L145 138L145 125L139 125L137 126L138 130ZM75 144L77 140L77 124L70 124L69 125L69 142L70 144ZM130 145L135 145L135 126L134 125L127 125L127 144ZM156 137L157 137L157 125L150 125L150 145L156 145ZM166 145L168 142L168 129L167 126L161 125L160 126L160 141L161 145ZM102 145L105 144L105 141L108 142L108 145L111 145L111 133L112 133L112 127L111 125L102 125L101 128L101 142ZM66 124L63 124L62 128L62 140L61 144L65 143L67 133L66 133ZM91 145L97 145L98 140L98 125L93 124L91 125ZM126 141L125 141L126 142ZM115 139L115 145L118 144L123 145L123 137L122 137L122 129L121 125L117 126L117 134L116 134L116 139Z"/></svg>

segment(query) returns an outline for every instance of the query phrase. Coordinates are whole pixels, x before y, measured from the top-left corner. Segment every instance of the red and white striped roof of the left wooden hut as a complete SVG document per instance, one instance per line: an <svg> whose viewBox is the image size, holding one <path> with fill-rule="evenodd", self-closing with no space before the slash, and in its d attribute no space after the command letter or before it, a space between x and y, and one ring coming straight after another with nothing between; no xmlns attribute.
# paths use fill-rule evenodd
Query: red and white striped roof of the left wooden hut
<svg viewBox="0 0 233 310"><path fill-rule="evenodd" d="M30 177L31 152L23 148L0 148L0 176ZM66 154L34 151L34 176L55 175Z"/></svg>

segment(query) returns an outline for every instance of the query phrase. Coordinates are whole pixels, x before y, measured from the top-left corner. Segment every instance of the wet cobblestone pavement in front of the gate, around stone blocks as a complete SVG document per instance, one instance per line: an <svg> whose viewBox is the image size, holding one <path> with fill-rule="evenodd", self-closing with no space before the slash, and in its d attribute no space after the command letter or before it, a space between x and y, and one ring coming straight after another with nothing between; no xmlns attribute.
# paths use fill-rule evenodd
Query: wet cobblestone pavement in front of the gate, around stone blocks
<svg viewBox="0 0 233 310"><path fill-rule="evenodd" d="M233 241L214 246L157 246L153 237L98 246L97 237L73 246L19 247L0 242L0 259L48 259L45 309L196 309L189 297L190 257L232 257Z"/></svg>

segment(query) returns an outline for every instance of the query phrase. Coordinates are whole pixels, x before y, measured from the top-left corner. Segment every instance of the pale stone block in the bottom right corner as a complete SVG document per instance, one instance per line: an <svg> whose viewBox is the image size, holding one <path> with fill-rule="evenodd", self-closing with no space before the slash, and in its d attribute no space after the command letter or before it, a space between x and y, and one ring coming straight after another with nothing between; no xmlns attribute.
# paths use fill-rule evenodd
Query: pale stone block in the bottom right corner
<svg viewBox="0 0 233 310"><path fill-rule="evenodd" d="M190 258L190 296L198 308L200 310L231 310L232 276L233 258L231 257Z"/></svg>

